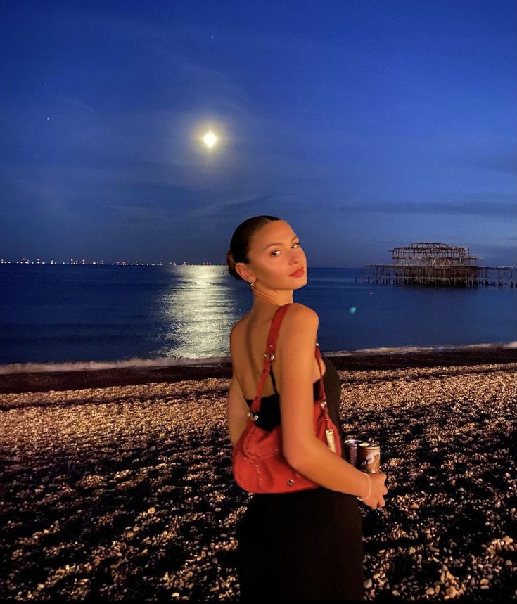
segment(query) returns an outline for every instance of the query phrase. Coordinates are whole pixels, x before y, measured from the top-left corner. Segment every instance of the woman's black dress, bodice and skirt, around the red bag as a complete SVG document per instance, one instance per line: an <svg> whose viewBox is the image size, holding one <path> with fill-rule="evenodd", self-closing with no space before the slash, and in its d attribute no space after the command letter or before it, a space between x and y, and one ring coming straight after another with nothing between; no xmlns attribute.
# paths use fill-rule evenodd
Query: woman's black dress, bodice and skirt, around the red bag
<svg viewBox="0 0 517 604"><path fill-rule="evenodd" d="M321 358L328 414L343 450L341 380L332 362L323 354ZM279 394L271 375L275 393L262 397L257 420L265 430L280 423ZM314 399L318 397L319 380L314 382ZM254 494L236 531L241 600L364 599L362 517L355 496L324 487Z"/></svg>

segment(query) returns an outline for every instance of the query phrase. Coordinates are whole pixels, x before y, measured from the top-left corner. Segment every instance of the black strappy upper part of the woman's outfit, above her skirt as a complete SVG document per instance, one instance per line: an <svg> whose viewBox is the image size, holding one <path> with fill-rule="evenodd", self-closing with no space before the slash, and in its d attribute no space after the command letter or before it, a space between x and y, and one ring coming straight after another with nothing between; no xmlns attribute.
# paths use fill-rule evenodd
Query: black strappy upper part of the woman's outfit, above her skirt
<svg viewBox="0 0 517 604"><path fill-rule="evenodd" d="M339 377L336 367L333 365L330 359L327 359L323 353L321 353L321 359L323 359L326 366L326 371L323 374L323 383L325 387L325 394L327 400L328 415L330 416L333 423L337 426L339 436L341 439L341 450L342 457L345 458L345 451L343 447L343 433L341 431L341 421L339 416L339 405L341 399L341 378ZM269 373L271 374L271 380L273 383L274 393L269 394L267 397L262 397L260 401L260 413L257 419L257 426L262 430L273 430L280 423L280 399L279 392L276 390L276 383L273 375L273 366L271 366ZM318 378L312 384L312 390L314 393L314 400L319 398L319 380ZM248 407L253 403L253 399L245 399Z"/></svg>

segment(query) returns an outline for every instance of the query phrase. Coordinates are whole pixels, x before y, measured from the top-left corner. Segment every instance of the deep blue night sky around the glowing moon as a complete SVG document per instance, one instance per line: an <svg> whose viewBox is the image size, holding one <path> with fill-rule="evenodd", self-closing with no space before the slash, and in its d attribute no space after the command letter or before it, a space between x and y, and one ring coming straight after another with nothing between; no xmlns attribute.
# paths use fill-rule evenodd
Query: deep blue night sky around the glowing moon
<svg viewBox="0 0 517 604"><path fill-rule="evenodd" d="M0 257L517 265L513 0L2 3ZM199 136L212 129L208 150Z"/></svg>

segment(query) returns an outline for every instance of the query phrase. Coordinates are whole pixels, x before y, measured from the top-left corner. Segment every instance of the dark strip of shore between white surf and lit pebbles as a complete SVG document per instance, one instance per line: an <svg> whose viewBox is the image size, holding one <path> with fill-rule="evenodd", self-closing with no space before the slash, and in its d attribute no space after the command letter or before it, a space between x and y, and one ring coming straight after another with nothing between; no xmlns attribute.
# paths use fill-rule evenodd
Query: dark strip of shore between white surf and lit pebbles
<svg viewBox="0 0 517 604"><path fill-rule="evenodd" d="M511 345L468 345L462 347L414 347L325 352L341 371L375 371L435 366L468 366L517 362L517 347ZM141 359L139 359L141 361ZM175 359L166 366L117 366L64 371L0 371L0 395L51 390L82 390L147 383L181 382L208 378L231 378L229 356L213 359ZM122 361L130 364L132 361ZM21 364L17 364L23 370ZM27 364L28 365L28 364ZM31 364L36 366L37 364ZM69 366L72 364L68 364ZM77 364L84 365L84 364ZM103 364L98 364L103 365ZM4 369L9 366L4 366ZM1 370L1 367L0 367Z"/></svg>

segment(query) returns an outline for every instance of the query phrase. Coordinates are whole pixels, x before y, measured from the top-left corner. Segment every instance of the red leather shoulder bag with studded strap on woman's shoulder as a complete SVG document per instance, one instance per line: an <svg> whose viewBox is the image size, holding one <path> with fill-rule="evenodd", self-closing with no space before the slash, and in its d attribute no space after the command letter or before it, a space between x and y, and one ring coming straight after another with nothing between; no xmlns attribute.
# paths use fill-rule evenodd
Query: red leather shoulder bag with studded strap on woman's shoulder
<svg viewBox="0 0 517 604"><path fill-rule="evenodd" d="M264 368L260 378L257 394L248 412L248 423L234 446L231 468L239 487L250 493L290 493L306 489L316 489L320 485L298 473L288 464L283 456L282 428L277 425L273 430L263 430L255 423L260 413L262 387L274 359L276 339L283 316L292 302L283 304L276 311L269 335L267 349L264 353ZM325 387L319 360L319 345L314 354L319 367L319 398L314 401L314 434L328 447L341 456L341 442L338 429L328 416Z"/></svg>

